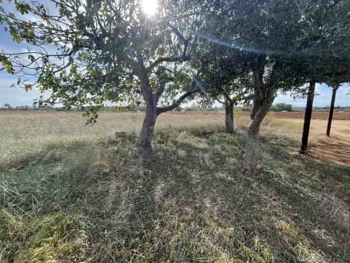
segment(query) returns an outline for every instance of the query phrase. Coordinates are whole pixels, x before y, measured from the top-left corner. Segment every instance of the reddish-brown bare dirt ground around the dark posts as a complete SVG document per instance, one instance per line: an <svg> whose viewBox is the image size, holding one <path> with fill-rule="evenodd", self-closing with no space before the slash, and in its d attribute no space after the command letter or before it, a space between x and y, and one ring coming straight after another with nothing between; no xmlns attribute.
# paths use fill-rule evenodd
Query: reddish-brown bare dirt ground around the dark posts
<svg viewBox="0 0 350 263"><path fill-rule="evenodd" d="M288 119L303 124L301 119ZM350 121L334 120L331 137L326 137L327 121L312 120L309 154L316 159L350 167ZM301 135L300 135L301 136Z"/></svg>

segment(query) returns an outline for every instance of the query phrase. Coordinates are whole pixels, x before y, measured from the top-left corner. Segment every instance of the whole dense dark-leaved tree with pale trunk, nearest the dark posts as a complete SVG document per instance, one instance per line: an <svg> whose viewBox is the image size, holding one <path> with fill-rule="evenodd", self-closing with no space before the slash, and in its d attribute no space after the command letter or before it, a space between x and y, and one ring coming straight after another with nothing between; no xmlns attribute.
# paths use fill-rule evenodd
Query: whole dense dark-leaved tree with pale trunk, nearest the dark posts
<svg viewBox="0 0 350 263"><path fill-rule="evenodd" d="M247 174L256 172L260 126L278 92L315 83L320 75L318 63L323 68L327 62L322 74L329 75L335 65L330 66L329 61L348 60L349 43L344 39L350 35L349 10L349 3L341 0L216 1L210 14L213 23L229 27L220 38L204 38L239 50L253 77L244 164Z"/></svg>

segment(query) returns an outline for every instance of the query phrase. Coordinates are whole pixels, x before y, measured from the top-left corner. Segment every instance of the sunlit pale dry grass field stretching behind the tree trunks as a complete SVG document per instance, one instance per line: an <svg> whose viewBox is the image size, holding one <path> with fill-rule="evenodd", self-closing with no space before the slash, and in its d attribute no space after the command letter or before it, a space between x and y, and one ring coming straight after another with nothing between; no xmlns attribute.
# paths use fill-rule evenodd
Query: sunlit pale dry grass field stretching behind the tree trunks
<svg viewBox="0 0 350 263"><path fill-rule="evenodd" d="M224 113L162 114L157 119L156 131L213 130L222 127ZM16 168L25 160L40 152L46 154L50 147L67 145L74 141L91 141L113 136L115 131L138 133L143 113L101 113L97 125L85 125L81 113L65 112L0 112L0 169ZM237 113L235 126L238 130L248 124L247 113ZM287 120L267 116L262 132L274 131L297 138L300 125ZM12 167L11 167L12 166Z"/></svg>

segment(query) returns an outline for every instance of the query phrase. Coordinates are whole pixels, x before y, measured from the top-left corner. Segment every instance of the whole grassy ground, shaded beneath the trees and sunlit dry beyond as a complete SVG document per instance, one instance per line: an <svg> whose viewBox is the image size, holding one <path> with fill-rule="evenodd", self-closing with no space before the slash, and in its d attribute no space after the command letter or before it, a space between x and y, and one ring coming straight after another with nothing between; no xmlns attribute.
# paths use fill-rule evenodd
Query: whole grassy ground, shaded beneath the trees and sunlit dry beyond
<svg viewBox="0 0 350 263"><path fill-rule="evenodd" d="M271 115L248 178L237 115L164 114L150 156L141 113L1 113L0 262L350 262L350 169Z"/></svg>

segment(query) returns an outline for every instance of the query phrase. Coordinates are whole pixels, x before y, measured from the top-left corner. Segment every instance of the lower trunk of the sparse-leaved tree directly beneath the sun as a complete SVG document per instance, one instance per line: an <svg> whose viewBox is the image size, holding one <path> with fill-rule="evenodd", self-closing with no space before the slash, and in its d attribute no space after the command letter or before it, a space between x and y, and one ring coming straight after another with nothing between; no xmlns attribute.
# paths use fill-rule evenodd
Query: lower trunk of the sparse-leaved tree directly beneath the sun
<svg viewBox="0 0 350 263"><path fill-rule="evenodd" d="M140 137L137 143L139 147L143 149L153 150L152 140L154 137L156 118L156 99L155 94L152 94L152 96L150 96L149 99L146 101L146 114L143 120Z"/></svg>

